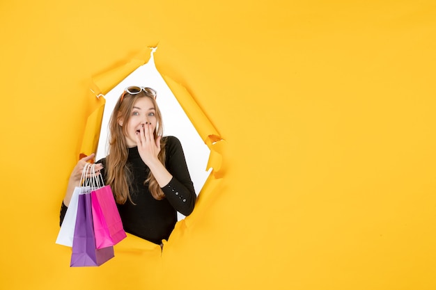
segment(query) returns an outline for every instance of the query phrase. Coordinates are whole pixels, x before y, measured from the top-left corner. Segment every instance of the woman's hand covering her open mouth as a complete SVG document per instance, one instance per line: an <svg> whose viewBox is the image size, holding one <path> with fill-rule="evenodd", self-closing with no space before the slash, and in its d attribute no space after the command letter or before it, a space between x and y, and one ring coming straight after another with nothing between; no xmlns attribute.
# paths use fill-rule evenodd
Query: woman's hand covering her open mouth
<svg viewBox="0 0 436 290"><path fill-rule="evenodd" d="M161 136L157 137L153 134L153 127L150 123L146 122L141 126L139 133L136 134L135 138L137 141L138 152L141 159L148 167L152 166L156 162L160 162L157 155L160 152L160 139Z"/></svg>

